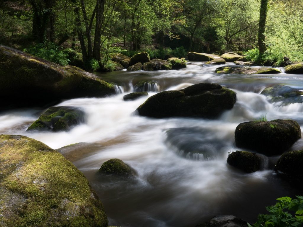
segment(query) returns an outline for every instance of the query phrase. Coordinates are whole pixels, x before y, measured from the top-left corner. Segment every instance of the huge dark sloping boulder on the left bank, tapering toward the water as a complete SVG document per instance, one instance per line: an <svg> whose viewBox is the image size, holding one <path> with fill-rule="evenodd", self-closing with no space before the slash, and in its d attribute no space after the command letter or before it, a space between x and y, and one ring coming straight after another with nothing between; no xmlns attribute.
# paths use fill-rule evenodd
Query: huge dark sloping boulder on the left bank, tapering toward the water
<svg viewBox="0 0 303 227"><path fill-rule="evenodd" d="M73 97L115 94L115 86L75 66L60 66L0 45L2 106L45 105Z"/></svg>

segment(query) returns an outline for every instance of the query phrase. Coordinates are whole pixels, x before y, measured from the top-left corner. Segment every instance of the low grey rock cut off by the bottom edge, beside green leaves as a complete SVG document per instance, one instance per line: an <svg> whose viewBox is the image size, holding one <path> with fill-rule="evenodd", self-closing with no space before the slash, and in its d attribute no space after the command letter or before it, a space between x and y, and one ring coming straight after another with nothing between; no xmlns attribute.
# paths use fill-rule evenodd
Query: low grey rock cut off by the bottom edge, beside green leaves
<svg viewBox="0 0 303 227"><path fill-rule="evenodd" d="M232 215L215 216L196 227L247 227L247 222Z"/></svg>

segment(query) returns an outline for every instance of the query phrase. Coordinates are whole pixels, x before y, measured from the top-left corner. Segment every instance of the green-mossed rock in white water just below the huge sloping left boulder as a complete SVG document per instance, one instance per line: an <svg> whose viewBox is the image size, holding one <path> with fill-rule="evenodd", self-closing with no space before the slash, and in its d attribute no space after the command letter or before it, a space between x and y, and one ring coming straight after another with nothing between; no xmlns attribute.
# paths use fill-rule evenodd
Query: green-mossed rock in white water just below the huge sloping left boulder
<svg viewBox="0 0 303 227"><path fill-rule="evenodd" d="M27 131L68 131L71 127L85 122L82 109L72 106L55 106L44 112Z"/></svg>

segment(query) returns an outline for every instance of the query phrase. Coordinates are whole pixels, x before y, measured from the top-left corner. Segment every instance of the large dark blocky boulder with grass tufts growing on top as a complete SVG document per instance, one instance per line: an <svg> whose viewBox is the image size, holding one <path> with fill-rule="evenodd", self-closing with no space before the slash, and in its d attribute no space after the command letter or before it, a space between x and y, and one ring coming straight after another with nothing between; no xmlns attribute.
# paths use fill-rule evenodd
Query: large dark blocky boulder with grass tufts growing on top
<svg viewBox="0 0 303 227"><path fill-rule="evenodd" d="M268 156L282 154L300 138L300 125L293 120L244 122L235 130L237 147Z"/></svg>

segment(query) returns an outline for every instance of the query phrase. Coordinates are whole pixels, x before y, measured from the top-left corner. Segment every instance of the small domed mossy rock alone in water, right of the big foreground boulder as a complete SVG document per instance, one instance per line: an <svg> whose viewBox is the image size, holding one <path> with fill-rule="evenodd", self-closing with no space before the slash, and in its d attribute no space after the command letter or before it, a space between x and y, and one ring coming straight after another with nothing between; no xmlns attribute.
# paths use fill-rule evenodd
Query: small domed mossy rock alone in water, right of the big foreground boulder
<svg viewBox="0 0 303 227"><path fill-rule="evenodd" d="M131 167L118 158L113 158L103 163L99 169L99 172L122 177L135 176L134 170L132 170Z"/></svg>

